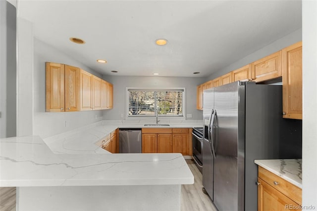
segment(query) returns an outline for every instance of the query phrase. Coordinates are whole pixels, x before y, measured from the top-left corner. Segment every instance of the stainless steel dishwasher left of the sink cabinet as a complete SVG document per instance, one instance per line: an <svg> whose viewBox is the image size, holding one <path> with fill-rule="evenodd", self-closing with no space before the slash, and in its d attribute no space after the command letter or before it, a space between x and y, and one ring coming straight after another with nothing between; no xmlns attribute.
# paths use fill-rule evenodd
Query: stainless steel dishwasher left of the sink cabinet
<svg viewBox="0 0 317 211"><path fill-rule="evenodd" d="M142 153L141 128L119 128L119 153Z"/></svg>

